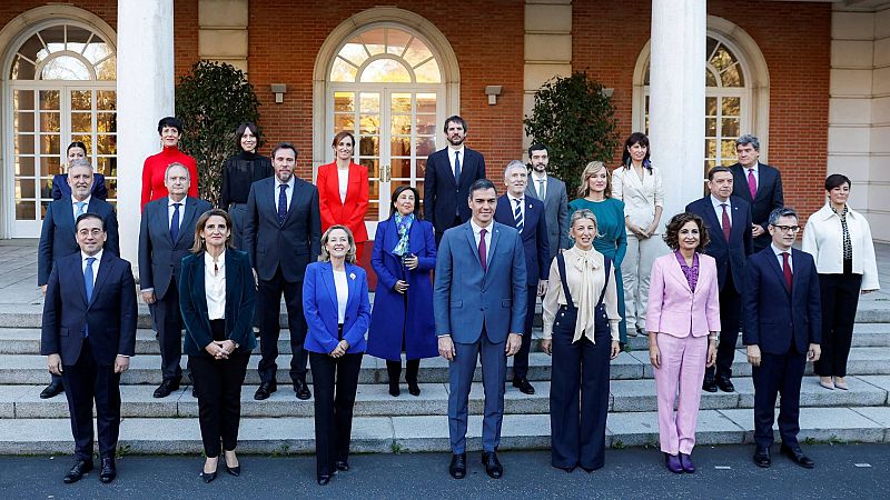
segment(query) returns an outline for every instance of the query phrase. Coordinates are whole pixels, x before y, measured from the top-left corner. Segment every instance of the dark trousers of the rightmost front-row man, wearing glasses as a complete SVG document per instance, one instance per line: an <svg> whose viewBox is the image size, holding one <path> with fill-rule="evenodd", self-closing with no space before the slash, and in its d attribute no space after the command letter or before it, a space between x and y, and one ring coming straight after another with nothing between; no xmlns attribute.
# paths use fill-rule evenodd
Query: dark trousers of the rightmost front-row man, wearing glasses
<svg viewBox="0 0 890 500"><path fill-rule="evenodd" d="M800 431L800 383L807 367L807 354L761 352L760 367L753 367L754 381L754 442L769 448L773 443L772 424L775 421L775 396L782 394L779 406L779 433L782 442L798 446Z"/></svg>

